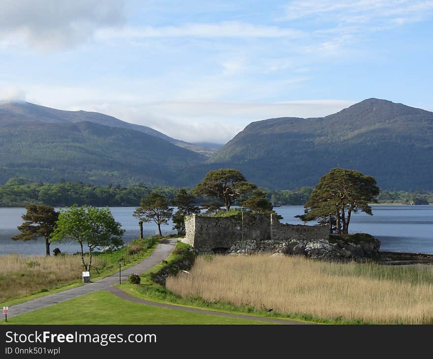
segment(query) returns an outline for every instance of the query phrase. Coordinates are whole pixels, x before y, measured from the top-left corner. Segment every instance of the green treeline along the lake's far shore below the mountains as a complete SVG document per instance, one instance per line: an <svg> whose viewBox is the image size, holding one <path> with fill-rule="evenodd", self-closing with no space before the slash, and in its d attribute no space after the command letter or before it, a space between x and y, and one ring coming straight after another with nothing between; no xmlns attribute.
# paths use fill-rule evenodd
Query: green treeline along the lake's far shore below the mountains
<svg viewBox="0 0 433 359"><path fill-rule="evenodd" d="M274 206L302 206L312 191L311 187L293 190L271 190L261 188ZM129 185L108 184L95 186L82 182L43 183L31 182L24 178L12 178L0 185L0 207L25 207L28 204L45 204L55 207L88 205L96 207L136 207L140 199L152 191L164 195L172 202L178 192L177 187L148 187L144 183ZM197 203L203 202L198 198ZM433 203L433 192L387 191L381 190L378 203L423 205Z"/></svg>

